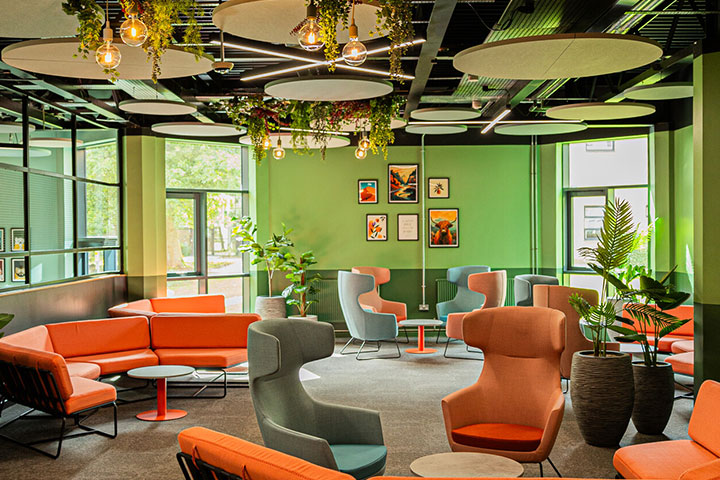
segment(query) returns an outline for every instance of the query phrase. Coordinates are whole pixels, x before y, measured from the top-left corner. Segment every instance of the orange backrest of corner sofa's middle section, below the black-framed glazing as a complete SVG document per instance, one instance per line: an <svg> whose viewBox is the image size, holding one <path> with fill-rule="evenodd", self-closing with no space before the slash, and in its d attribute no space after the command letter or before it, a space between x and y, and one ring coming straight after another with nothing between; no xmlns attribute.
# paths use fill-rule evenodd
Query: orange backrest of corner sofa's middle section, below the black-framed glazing
<svg viewBox="0 0 720 480"><path fill-rule="evenodd" d="M108 318L47 325L55 351L65 358L150 346L146 317Z"/></svg>

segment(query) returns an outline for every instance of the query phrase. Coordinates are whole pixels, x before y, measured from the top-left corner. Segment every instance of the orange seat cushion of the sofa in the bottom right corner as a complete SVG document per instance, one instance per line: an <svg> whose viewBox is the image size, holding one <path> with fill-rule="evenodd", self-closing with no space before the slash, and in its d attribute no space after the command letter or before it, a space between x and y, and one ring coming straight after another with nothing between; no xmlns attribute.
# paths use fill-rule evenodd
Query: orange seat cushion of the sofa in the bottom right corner
<svg viewBox="0 0 720 480"><path fill-rule="evenodd" d="M613 466L625 478L680 478L691 467L716 460L692 440L630 445L615 452Z"/></svg>

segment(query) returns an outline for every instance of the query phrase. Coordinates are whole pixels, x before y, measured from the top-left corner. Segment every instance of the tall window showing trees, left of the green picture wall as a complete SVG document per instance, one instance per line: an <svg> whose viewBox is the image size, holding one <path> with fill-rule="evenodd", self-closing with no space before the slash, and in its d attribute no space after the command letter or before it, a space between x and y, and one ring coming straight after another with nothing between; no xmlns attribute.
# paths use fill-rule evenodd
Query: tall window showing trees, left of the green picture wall
<svg viewBox="0 0 720 480"><path fill-rule="evenodd" d="M247 158L240 146L166 141L168 296L221 293L229 312L249 305L249 264L232 235L247 215Z"/></svg>

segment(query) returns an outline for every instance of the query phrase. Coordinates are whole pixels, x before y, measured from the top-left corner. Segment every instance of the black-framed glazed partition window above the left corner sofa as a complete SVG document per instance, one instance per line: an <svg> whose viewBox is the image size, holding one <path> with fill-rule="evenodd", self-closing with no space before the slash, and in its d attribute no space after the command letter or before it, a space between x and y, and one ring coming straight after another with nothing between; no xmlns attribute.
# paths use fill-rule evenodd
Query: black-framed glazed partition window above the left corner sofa
<svg viewBox="0 0 720 480"><path fill-rule="evenodd" d="M0 291L120 272L117 131L38 127L23 144L0 134Z"/></svg>

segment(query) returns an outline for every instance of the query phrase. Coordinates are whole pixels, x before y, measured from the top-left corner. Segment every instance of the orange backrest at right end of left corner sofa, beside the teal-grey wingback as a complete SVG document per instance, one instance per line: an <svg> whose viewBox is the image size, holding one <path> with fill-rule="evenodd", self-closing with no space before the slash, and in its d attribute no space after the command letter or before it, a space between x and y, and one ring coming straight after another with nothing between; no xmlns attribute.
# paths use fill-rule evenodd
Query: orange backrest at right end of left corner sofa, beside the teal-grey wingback
<svg viewBox="0 0 720 480"><path fill-rule="evenodd" d="M258 320L254 313L155 315L152 348L245 348L248 326Z"/></svg>

